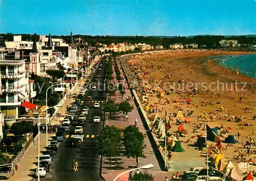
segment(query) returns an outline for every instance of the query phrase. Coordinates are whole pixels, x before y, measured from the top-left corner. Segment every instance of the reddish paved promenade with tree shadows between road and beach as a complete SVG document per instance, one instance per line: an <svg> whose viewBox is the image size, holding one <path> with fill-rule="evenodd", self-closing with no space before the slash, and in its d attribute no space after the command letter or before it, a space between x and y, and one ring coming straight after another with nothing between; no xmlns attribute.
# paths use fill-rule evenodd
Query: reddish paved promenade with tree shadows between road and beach
<svg viewBox="0 0 256 181"><path fill-rule="evenodd" d="M118 62L118 65L119 65L119 70L121 72L122 69L120 67L119 62ZM115 77L115 71L113 75ZM121 77L122 75L123 73L121 72ZM118 81L116 79L114 79L113 81L115 81L116 84L118 85L117 83ZM125 87L127 86L125 79L123 79L122 83ZM130 97L132 96L129 89L125 89L125 94L123 96L124 100L126 100L126 96L130 96ZM122 95L119 93L119 91L117 91L115 95L111 96L111 100L114 100L115 103L121 103ZM108 125L116 126L116 127L127 127L129 125L135 125L135 119L137 118L138 119L137 127L139 127L139 130L146 135L146 130L143 126L143 123L141 121L141 118L139 116L139 113L138 113L137 107L135 106L134 101L129 101L129 103L133 104L135 108L132 110L132 112L129 112L128 121L123 121L123 114L118 113L112 116L112 121L110 121L108 118ZM106 120L105 120L105 124L106 124ZM146 148L144 149L144 154L146 158L139 158L139 166L153 164L154 168L147 170L147 172L152 173L155 176L155 180L164 180L165 176L170 178L170 175L172 175L173 173L161 171L159 163L157 161L157 158L155 156L152 145L147 135L144 139L144 143L146 145ZM109 159L107 157L103 157L103 161L102 161L102 176L107 181L112 181L117 175L119 175L120 173L126 170L132 169L133 166L136 165L135 159L133 158L127 159L127 157L124 157L124 156L119 156L112 160L113 160L112 171L109 170Z"/></svg>

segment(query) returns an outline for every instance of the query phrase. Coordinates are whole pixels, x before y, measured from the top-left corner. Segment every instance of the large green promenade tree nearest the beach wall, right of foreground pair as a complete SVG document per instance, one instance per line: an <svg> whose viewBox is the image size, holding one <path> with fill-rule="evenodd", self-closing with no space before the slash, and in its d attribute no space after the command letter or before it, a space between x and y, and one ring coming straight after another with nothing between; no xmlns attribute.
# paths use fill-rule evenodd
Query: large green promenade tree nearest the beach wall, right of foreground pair
<svg viewBox="0 0 256 181"><path fill-rule="evenodd" d="M143 150L146 148L144 145L144 135L139 131L135 125L131 125L124 130L124 147L125 153L129 159L130 157L136 158L136 165L138 167L138 157L145 157Z"/></svg>

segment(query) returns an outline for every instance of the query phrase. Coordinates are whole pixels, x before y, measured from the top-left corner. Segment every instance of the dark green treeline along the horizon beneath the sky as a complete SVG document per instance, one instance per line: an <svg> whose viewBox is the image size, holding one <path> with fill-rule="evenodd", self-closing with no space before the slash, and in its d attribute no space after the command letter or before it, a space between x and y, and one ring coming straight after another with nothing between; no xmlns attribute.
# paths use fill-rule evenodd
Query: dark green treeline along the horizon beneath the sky
<svg viewBox="0 0 256 181"><path fill-rule="evenodd" d="M0 46L4 46L5 41L13 41L14 34L0 34ZM33 40L33 35L30 34L21 34L22 40ZM173 43L197 43L199 46L206 45L207 48L216 48L219 47L219 41L222 39L233 39L238 40L240 44L256 44L255 36L216 36L216 35L198 35L194 37L185 37L185 36L174 36L174 37L157 37L157 36L89 36L89 35L73 35L73 38L83 39L84 42L88 42L92 45L100 42L102 44L111 44L111 43L147 43L153 46L162 45L164 48L169 48L170 44ZM70 36L55 36L52 35L52 38L62 38L67 43L70 41ZM37 40L39 35L37 35Z"/></svg>

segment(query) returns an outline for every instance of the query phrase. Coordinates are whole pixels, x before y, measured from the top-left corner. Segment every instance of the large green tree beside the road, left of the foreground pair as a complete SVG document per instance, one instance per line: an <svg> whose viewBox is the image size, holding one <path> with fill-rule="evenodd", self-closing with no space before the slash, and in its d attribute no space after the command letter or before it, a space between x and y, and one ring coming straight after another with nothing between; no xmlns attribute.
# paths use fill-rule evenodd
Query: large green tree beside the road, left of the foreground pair
<svg viewBox="0 0 256 181"><path fill-rule="evenodd" d="M112 166L112 157L120 155L121 140L121 133L118 128L114 126L106 126L99 133L98 153L109 157L110 170Z"/></svg>

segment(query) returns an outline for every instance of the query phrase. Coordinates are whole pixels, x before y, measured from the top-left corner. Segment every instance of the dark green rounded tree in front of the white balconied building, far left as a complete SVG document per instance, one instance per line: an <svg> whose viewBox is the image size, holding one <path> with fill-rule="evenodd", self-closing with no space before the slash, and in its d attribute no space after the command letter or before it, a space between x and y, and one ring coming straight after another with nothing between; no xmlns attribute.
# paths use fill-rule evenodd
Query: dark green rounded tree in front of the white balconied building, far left
<svg viewBox="0 0 256 181"><path fill-rule="evenodd" d="M11 132L17 136L21 137L23 134L31 132L33 124L28 121L15 122L11 126Z"/></svg>

